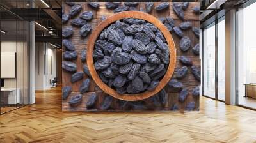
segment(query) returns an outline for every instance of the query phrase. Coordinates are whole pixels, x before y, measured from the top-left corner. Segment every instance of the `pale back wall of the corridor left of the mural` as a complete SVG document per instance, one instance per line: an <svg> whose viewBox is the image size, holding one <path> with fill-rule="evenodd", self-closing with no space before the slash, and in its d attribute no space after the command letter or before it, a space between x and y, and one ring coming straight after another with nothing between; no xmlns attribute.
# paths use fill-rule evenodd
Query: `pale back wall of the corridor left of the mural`
<svg viewBox="0 0 256 143"><path fill-rule="evenodd" d="M56 77L56 49L49 43L36 43L35 90L50 89L50 80L54 77Z"/></svg>

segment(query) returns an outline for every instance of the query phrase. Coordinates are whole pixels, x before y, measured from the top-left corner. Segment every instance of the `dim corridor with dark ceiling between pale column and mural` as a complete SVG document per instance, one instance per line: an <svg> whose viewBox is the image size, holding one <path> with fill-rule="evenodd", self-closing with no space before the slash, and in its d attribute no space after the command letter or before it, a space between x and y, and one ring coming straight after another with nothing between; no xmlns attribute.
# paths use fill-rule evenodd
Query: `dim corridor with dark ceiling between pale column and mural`
<svg viewBox="0 0 256 143"><path fill-rule="evenodd" d="M52 15L60 14L60 1L52 1L50 4L56 9L51 11ZM34 6L45 7L46 5L35 1ZM45 13L38 13L37 17L44 17L44 15ZM58 36L61 27L51 15L47 16L46 19L39 18L35 22L35 91L39 93L60 86L62 80L61 38Z"/></svg>

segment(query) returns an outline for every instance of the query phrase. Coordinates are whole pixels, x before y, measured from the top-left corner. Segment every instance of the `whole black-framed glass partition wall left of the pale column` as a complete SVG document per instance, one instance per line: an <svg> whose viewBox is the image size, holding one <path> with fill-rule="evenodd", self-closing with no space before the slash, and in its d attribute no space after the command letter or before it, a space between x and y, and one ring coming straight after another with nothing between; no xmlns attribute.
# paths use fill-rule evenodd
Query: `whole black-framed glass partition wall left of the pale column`
<svg viewBox="0 0 256 143"><path fill-rule="evenodd" d="M0 1L0 114L29 104L29 22L12 13L24 8L25 1L12 1L14 9L3 3Z"/></svg>

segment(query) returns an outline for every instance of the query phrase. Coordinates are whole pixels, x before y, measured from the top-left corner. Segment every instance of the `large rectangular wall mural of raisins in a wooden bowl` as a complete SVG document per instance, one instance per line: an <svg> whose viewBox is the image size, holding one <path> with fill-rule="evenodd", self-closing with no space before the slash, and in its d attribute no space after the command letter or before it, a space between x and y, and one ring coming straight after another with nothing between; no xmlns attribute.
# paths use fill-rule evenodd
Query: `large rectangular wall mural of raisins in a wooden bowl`
<svg viewBox="0 0 256 143"><path fill-rule="evenodd" d="M198 2L63 2L63 111L199 110Z"/></svg>

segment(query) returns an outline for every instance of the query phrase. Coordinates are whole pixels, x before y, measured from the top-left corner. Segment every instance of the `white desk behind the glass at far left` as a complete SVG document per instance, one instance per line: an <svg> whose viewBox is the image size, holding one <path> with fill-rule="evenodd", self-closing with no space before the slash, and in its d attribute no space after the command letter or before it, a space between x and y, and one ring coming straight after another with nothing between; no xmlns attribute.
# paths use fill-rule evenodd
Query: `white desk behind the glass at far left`
<svg viewBox="0 0 256 143"><path fill-rule="evenodd" d="M17 89L16 97L16 88L3 88L1 89L1 100L4 104L17 104L20 103L20 89Z"/></svg>

